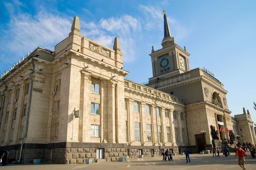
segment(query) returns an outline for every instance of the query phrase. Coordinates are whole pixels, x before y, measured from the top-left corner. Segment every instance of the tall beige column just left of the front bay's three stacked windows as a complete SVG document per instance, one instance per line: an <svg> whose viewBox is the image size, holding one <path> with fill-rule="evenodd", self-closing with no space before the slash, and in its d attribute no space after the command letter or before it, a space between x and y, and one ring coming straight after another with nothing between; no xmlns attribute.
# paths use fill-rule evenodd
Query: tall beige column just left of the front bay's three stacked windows
<svg viewBox="0 0 256 170"><path fill-rule="evenodd" d="M81 74L81 86L80 86L80 118L79 118L79 142L86 142L86 130L87 130L87 89L88 89L89 75L82 72Z"/></svg>

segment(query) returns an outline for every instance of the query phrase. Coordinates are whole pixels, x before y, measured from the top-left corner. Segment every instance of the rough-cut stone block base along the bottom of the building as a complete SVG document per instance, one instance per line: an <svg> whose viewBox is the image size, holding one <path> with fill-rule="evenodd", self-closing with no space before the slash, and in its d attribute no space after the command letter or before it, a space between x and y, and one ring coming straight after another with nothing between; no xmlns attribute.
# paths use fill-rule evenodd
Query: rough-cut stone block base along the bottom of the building
<svg viewBox="0 0 256 170"><path fill-rule="evenodd" d="M55 164L85 164L85 159L93 162L118 161L118 158L138 158L139 155L151 157L151 154L161 155L161 150L172 149L179 154L177 146L127 146L127 144L75 143L62 142L52 144L24 144L19 164L33 163L33 159L41 159L41 163ZM9 161L15 161L20 156L20 144L0 147L9 150ZM102 149L102 158L97 158L97 152Z"/></svg>

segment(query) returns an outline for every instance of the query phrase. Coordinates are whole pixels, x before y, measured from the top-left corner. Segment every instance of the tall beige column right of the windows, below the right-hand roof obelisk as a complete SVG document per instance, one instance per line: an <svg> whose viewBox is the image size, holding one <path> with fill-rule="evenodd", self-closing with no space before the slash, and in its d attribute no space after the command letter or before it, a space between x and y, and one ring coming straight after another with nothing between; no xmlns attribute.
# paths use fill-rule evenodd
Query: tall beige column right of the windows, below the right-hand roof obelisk
<svg viewBox="0 0 256 170"><path fill-rule="evenodd" d="M108 143L116 143L115 86L116 83L108 81Z"/></svg>

